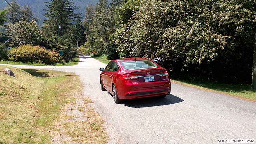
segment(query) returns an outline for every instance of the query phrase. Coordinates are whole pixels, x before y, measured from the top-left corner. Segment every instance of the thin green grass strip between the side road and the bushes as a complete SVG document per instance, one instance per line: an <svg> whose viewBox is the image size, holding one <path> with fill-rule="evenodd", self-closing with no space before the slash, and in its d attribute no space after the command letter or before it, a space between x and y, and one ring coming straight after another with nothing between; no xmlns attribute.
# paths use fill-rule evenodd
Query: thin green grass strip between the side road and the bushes
<svg viewBox="0 0 256 144"><path fill-rule="evenodd" d="M24 63L24 62L16 62L16 61L0 61L0 64L10 64L10 65L30 65L30 66L73 66L77 65L79 62L79 55L76 55L74 58L74 61L68 62L68 63L55 63L54 65L46 65L46 64L41 64L41 63Z"/></svg>

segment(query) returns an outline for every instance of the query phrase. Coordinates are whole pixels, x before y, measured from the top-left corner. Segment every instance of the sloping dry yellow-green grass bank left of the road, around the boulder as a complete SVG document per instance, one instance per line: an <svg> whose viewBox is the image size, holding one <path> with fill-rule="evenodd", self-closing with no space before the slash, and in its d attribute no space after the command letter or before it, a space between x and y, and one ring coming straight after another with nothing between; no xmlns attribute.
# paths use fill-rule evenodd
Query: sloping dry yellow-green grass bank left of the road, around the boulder
<svg viewBox="0 0 256 144"><path fill-rule="evenodd" d="M67 108L80 97L82 86L73 73L0 66L0 144L52 143L60 135L63 143L106 143L103 120L86 104L89 98L79 108L84 121L69 120L76 115L68 115Z"/></svg>

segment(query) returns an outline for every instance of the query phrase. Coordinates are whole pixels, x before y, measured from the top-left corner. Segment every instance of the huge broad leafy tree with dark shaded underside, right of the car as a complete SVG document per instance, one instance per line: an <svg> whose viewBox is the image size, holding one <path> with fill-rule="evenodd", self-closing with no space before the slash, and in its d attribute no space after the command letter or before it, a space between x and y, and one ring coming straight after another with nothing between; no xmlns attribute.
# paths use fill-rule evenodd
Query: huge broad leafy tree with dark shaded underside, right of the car
<svg viewBox="0 0 256 144"><path fill-rule="evenodd" d="M130 56L160 57L176 74L248 83L255 36L255 7L250 4L146 0L127 35L134 40Z"/></svg>

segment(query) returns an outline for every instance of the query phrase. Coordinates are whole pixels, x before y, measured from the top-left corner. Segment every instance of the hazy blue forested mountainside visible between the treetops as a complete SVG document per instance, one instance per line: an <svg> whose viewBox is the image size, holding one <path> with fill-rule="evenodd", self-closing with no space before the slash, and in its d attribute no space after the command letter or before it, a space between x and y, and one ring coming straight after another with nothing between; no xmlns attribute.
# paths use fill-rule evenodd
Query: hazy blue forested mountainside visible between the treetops
<svg viewBox="0 0 256 144"><path fill-rule="evenodd" d="M8 3L10 3L11 0L6 0ZM42 25L43 21L46 19L44 17L44 9L46 8L44 2L50 2L51 0L19 0L17 3L22 5L29 4L31 6L31 10L35 13L35 16L39 18L38 24ZM73 0L74 5L77 5L80 7L78 10L75 10L75 13L81 13L81 16L84 17L85 7L88 4L97 4L98 0ZM3 10L8 4L2 0L0 1L0 10Z"/></svg>

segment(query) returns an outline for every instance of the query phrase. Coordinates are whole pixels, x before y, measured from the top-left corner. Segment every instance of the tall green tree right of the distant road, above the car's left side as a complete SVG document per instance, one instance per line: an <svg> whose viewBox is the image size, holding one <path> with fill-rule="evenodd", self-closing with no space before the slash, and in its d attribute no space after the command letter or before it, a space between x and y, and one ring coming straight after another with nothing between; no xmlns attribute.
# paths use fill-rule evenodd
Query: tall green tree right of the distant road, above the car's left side
<svg viewBox="0 0 256 144"><path fill-rule="evenodd" d="M107 0L100 0L96 5L95 15L87 40L98 54L107 54L108 59L116 57L116 46L111 44L109 35L114 32L114 11L108 6ZM113 53L114 52L114 53ZM111 58L110 58L111 57Z"/></svg>

